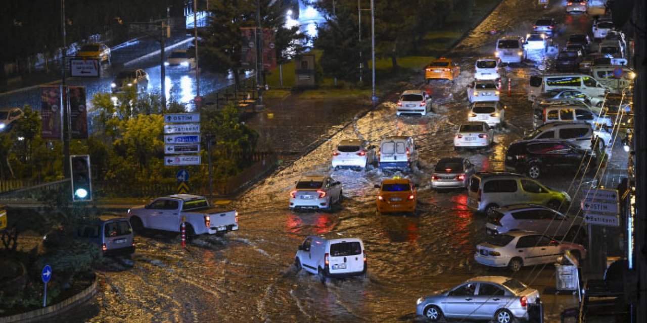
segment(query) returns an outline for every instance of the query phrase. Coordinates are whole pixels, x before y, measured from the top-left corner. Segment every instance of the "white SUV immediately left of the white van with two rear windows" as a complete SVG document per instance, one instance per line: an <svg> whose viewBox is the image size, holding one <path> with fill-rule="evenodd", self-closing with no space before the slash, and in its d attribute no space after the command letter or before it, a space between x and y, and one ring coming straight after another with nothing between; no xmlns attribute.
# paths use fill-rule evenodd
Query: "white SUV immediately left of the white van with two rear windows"
<svg viewBox="0 0 647 323"><path fill-rule="evenodd" d="M373 163L375 163L375 146L367 146L366 141L363 140L342 140L333 151L333 169L344 167L366 169Z"/></svg>

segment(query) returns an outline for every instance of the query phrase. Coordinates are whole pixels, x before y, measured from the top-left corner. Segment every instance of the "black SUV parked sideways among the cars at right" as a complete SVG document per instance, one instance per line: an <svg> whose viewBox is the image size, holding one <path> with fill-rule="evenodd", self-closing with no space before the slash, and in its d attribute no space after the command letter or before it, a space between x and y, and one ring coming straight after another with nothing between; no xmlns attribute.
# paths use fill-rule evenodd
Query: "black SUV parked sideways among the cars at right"
<svg viewBox="0 0 647 323"><path fill-rule="evenodd" d="M505 153L505 168L538 178L550 168L586 169L595 172L597 160L591 151L564 140L520 140ZM559 172L559 171L558 171Z"/></svg>

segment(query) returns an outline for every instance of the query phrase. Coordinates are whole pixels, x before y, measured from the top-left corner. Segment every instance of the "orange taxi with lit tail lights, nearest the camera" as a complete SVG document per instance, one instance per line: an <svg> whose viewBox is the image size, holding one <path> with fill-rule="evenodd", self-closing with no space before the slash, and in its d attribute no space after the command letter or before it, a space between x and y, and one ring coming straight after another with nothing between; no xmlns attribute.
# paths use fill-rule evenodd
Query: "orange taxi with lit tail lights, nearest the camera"
<svg viewBox="0 0 647 323"><path fill-rule="evenodd" d="M379 213L415 213L418 201L418 184L411 183L407 178L394 177L382 180L382 183L375 187L380 189L377 193L377 211Z"/></svg>

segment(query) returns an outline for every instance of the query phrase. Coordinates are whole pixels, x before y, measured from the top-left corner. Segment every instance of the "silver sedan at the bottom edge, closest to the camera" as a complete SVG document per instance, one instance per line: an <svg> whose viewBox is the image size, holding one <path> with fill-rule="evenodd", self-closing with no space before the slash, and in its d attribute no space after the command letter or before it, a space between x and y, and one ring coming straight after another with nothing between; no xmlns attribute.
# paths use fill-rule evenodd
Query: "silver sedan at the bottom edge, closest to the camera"
<svg viewBox="0 0 647 323"><path fill-rule="evenodd" d="M539 291L505 276L478 276L439 295L418 298L416 313L438 322L443 317L528 320L540 313Z"/></svg>

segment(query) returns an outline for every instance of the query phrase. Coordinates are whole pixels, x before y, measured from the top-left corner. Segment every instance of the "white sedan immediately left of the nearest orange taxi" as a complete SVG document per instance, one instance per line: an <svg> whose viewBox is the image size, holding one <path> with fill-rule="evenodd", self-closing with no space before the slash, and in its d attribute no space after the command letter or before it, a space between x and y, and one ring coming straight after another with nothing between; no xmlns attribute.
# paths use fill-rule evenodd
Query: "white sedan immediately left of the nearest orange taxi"
<svg viewBox="0 0 647 323"><path fill-rule="evenodd" d="M342 203L342 183L330 176L304 176L290 191L290 209L323 209Z"/></svg>

